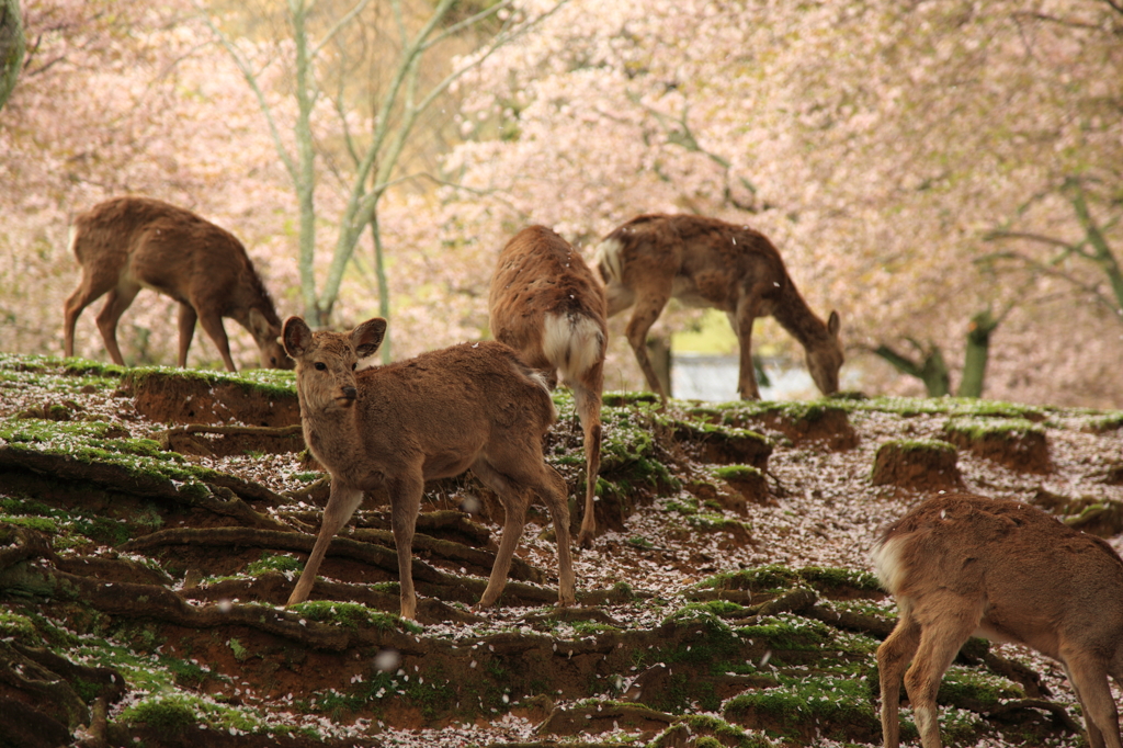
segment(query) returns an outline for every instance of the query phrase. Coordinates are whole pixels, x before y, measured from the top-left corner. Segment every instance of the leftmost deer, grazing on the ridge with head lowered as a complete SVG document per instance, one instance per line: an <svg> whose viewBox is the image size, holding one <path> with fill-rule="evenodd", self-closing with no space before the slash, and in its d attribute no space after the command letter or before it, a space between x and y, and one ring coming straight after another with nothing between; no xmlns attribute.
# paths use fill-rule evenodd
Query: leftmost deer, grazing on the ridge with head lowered
<svg viewBox="0 0 1123 748"><path fill-rule="evenodd" d="M125 365L117 322L140 289L180 303L179 365L188 364L195 321L214 341L227 371L237 371L222 327L229 317L254 337L263 368L292 368L280 344L281 319L245 247L232 234L190 210L140 197L121 197L80 213L71 226L71 252L82 281L64 307L64 348L74 355L74 326L82 310L109 294L98 329L115 364Z"/></svg>

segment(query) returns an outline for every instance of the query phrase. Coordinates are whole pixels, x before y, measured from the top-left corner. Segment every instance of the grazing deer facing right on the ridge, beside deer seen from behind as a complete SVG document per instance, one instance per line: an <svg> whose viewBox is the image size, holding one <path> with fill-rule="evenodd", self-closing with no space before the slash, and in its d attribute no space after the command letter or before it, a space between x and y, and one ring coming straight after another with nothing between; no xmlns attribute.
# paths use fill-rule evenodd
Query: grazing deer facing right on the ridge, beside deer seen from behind
<svg viewBox="0 0 1123 748"><path fill-rule="evenodd" d="M824 323L811 311L779 252L759 231L703 216L648 213L605 236L595 264L605 284L609 317L634 305L626 335L663 407L667 396L647 355L647 334L672 298L729 317L740 348L737 389L742 400L760 399L752 323L768 316L803 346L819 390L838 392L843 361L838 312Z"/></svg>

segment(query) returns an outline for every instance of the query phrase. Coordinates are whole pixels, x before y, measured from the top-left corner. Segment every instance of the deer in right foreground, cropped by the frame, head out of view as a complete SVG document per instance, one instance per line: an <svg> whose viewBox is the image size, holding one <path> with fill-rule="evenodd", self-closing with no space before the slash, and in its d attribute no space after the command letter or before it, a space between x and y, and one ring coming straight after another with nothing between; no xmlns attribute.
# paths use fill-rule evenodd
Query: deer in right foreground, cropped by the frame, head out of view
<svg viewBox="0 0 1123 748"><path fill-rule="evenodd" d="M1111 546L1026 504L959 494L889 524L874 562L901 612L877 649L886 748L900 741L902 675L921 744L939 748L935 694L971 635L1060 660L1092 748L1120 748L1107 676L1123 685L1123 560Z"/></svg>

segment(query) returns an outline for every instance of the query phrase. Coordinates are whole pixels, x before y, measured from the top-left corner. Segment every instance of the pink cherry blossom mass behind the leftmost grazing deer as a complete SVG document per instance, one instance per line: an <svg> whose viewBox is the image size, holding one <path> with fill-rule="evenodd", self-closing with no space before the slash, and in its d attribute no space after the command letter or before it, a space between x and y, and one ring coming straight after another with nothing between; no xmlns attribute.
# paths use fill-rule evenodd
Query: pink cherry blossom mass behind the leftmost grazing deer
<svg viewBox="0 0 1123 748"><path fill-rule="evenodd" d="M63 301L79 279L67 226L117 194L161 198L229 228L284 305L289 193L237 70L200 56L208 35L186 22L189 10L25 4L27 60L0 111L0 349L61 353ZM131 361L174 361L171 303L146 292L129 309L121 337ZM80 320L79 352L103 357L92 317ZM236 357L254 361L248 334L231 332ZM195 365L217 361L209 341L194 348Z"/></svg>

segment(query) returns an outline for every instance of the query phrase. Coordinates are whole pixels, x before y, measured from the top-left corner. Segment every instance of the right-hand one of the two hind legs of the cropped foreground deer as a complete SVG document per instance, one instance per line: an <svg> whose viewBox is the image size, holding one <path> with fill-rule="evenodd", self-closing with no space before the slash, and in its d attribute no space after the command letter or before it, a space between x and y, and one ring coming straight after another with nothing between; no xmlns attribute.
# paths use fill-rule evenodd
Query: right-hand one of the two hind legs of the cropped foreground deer
<svg viewBox="0 0 1123 748"><path fill-rule="evenodd" d="M978 601L960 595L935 593L926 595L923 609L916 605L913 614L923 623L916 656L905 673L905 688L912 702L921 745L923 748L940 748L935 694L959 648L978 628L983 606Z"/></svg>

